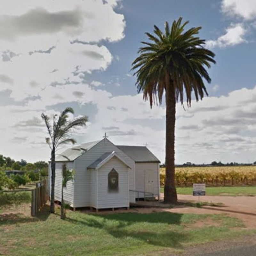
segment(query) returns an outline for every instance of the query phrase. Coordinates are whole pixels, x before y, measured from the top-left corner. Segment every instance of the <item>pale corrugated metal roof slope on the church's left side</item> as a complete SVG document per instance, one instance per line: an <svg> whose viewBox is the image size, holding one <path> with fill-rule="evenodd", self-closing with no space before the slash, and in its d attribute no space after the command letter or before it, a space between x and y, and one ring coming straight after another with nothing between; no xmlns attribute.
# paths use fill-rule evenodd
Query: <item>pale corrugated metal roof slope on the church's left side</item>
<svg viewBox="0 0 256 256"><path fill-rule="evenodd" d="M56 156L56 162L74 161L77 157L83 155L87 150L98 144L101 140L83 143L73 148L68 148Z"/></svg>

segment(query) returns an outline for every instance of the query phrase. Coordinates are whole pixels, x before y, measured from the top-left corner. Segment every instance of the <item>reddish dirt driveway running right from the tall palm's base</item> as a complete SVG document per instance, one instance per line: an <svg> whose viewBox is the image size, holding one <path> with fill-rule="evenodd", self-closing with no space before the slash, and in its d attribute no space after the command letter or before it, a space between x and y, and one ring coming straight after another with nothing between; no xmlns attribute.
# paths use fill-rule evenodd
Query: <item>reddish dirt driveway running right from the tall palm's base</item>
<svg viewBox="0 0 256 256"><path fill-rule="evenodd" d="M163 196L163 195L162 195ZM180 201L198 202L198 196L178 195ZM222 203L221 207L203 206L162 209L179 213L227 213L244 221L247 228L256 228L256 196L200 196L201 202Z"/></svg>

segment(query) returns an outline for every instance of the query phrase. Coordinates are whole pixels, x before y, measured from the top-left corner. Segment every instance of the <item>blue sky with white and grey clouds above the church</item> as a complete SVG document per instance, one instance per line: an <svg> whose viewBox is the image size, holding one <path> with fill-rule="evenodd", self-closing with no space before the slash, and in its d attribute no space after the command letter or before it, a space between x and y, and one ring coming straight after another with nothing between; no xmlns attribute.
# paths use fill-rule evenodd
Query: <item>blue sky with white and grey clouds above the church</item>
<svg viewBox="0 0 256 256"><path fill-rule="evenodd" d="M107 132L116 144L147 143L164 162L165 106L150 109L130 69L145 32L181 16L187 29L202 27L217 64L209 97L186 111L177 105L176 163L256 161L254 2L1 1L0 154L49 160L41 113L71 106L89 117L73 135L78 143Z"/></svg>

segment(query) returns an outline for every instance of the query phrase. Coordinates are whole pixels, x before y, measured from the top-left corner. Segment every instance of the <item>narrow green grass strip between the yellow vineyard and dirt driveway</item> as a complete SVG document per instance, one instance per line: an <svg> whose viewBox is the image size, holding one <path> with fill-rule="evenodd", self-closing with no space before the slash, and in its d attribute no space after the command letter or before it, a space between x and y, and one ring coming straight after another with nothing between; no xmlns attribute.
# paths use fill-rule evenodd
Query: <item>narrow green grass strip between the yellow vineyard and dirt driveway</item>
<svg viewBox="0 0 256 256"><path fill-rule="evenodd" d="M192 195L193 188L176 188L178 194ZM164 193L164 188L160 189ZM244 187L206 187L207 196L256 196L256 186Z"/></svg>

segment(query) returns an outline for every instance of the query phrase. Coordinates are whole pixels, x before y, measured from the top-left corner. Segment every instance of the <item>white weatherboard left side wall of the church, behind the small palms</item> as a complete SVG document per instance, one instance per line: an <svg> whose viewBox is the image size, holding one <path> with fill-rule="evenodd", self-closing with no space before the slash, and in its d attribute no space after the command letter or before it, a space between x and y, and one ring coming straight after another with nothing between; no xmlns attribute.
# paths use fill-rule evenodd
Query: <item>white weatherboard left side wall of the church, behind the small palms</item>
<svg viewBox="0 0 256 256"><path fill-rule="evenodd" d="M62 187L62 165L67 165L68 170L74 169L73 162L57 162L55 167L55 186L54 186L54 199L61 202L61 187ZM51 163L49 164L49 179L51 180ZM49 182L50 183L50 182ZM50 187L51 191L51 187ZM74 202L74 181L68 181L67 187L63 189L64 201L73 206Z"/></svg>

